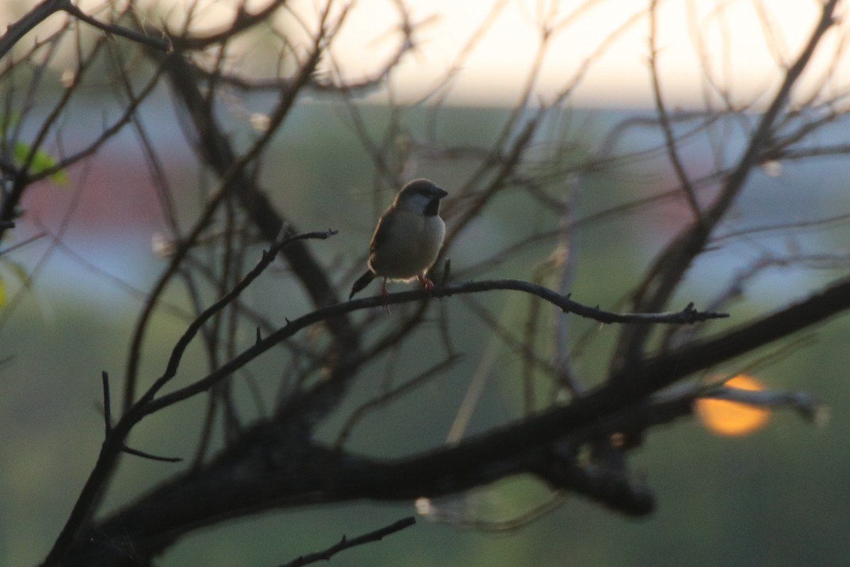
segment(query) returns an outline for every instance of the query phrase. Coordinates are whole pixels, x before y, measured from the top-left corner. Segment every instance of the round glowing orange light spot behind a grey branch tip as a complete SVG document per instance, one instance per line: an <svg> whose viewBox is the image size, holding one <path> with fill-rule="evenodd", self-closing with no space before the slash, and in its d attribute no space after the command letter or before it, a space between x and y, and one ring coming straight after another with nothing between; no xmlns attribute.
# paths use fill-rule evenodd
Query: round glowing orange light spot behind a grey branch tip
<svg viewBox="0 0 850 567"><path fill-rule="evenodd" d="M739 374L724 386L742 390L763 390L756 378ZM770 418L770 410L730 400L701 398L696 401L697 415L709 431L718 435L745 435L762 428Z"/></svg>

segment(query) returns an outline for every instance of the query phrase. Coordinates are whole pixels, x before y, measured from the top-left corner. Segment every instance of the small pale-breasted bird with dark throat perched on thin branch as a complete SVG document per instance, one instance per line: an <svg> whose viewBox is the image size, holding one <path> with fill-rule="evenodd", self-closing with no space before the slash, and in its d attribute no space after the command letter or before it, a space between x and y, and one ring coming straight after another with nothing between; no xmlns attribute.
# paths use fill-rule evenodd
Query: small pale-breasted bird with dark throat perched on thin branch
<svg viewBox="0 0 850 567"><path fill-rule="evenodd" d="M401 188L377 221L369 244L369 269L351 286L348 299L376 277L383 278L381 294L387 312L387 280L416 278L427 289L433 288L425 274L443 245L445 223L439 218L439 200L446 195L428 179L414 179Z"/></svg>

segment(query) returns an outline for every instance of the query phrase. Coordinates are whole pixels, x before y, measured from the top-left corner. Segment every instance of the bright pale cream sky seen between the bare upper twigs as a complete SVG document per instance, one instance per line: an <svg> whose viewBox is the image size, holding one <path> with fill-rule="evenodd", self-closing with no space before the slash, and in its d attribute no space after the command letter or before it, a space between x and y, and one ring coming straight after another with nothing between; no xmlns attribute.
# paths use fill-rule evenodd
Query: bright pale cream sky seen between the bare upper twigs
<svg viewBox="0 0 850 567"><path fill-rule="evenodd" d="M250 10L270 0L248 0ZM166 9L171 26L195 3L195 21L220 27L233 18L236 0L140 0ZM351 0L354 9L332 53L346 77L357 80L379 67L399 41L397 3L404 3L416 26L416 50L394 77L393 93L401 101L416 100L445 77L458 55L488 14L494 14L468 56L460 62L449 101L458 104L510 105L516 102L529 76L541 41L541 22L557 22L534 97L551 99L575 80L587 58L592 65L570 103L582 106L652 105L649 79L649 0ZM850 0L845 0L850 2ZM80 0L94 10L104 0ZM287 7L303 20L314 20L324 0L291 0ZM338 0L337 5L345 2ZM771 93L781 80L781 65L794 60L819 16L819 0L660 0L657 11L657 50L660 81L668 105L702 106L709 84L706 77L728 89L736 102L757 93ZM840 5L839 16L844 8ZM17 7L17 10L23 9ZM144 9L141 10L144 12ZM286 9L280 18L290 18ZM53 16L58 18L59 16ZM292 21L292 20L290 20ZM42 26L50 26L48 21ZM0 22L3 24L3 22ZM3 26L4 28L5 26ZM617 33L617 30L623 29ZM833 30L816 55L819 66L808 73L805 88L822 74L836 54L847 23ZM292 26L287 27L292 30ZM41 34L43 35L43 33ZM613 37L613 39L609 38ZM604 52L598 50L604 46ZM707 54L701 57L700 53ZM268 55L267 55L268 57ZM850 77L850 64L838 55L835 80ZM246 59L250 58L250 55ZM706 76L700 60L707 60ZM821 73L816 70L820 69ZM807 77L804 77L807 78ZM828 94L846 92L850 79L828 84ZM767 97L764 97L767 98Z"/></svg>

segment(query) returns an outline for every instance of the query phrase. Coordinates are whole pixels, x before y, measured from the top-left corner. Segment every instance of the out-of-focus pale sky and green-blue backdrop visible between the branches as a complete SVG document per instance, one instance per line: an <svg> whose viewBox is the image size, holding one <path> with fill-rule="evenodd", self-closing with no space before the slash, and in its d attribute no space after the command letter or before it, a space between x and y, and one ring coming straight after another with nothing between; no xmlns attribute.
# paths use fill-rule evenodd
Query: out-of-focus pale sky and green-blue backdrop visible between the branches
<svg viewBox="0 0 850 567"><path fill-rule="evenodd" d="M218 26L229 14L219 4L201 3L198 14L206 20L197 20L197 25ZM494 139L528 86L526 77L541 44L540 24L546 20L569 26L569 32L554 35L547 45L542 71L530 86L531 98L557 96L591 58L593 65L570 95L564 112L553 118L550 131L557 132L555 137L575 155L603 152L617 125L639 124L655 116L647 65L646 7L626 0L582 4L586 9L573 4L410 2L411 19L419 26L416 49L391 83L357 99L365 125L379 131L391 119L390 104L406 105L405 128L411 139L429 135L458 146ZM0 8L0 29L28 8L26 3ZM393 50L389 31L397 15L391 8L377 1L357 4L333 52L344 77L365 76L374 61ZM293 10L298 9L309 14L311 3L295 3ZM179 18L178 9L156 14ZM751 112L763 110L759 105L769 101L767 94L782 78L778 62L796 57L818 15L819 3L814 1L771 3L769 8L761 2L661 3L656 42L666 104L687 111L716 100L717 93L706 90L700 66L707 56L730 97L753 101ZM46 33L51 23L45 22L40 32ZM482 28L480 42L467 55L469 38L483 23L488 25ZM697 29L699 34L694 32ZM847 58L836 57L841 47L837 41L827 42L819 50L812 70L795 92L797 99L808 96L807 85L817 82L825 70L835 77L830 88L836 93L847 91L850 85L839 82L850 77L845 70ZM272 65L273 60L268 50L262 36L247 39L241 54L246 70L267 72L264 65ZM433 103L438 100L430 94L435 84L445 81L449 68L456 71L449 88L439 91L439 117L434 119ZM57 88L62 71L59 58L51 70ZM44 105L48 108L47 102ZM268 105L268 96L234 92L223 109L233 138L249 139ZM98 131L119 109L93 86L77 110L62 123L62 146L56 151L71 152L82 145L78 140L90 139L93 130ZM195 170L195 157L165 89L144 103L141 116L156 149L167 156L164 166L181 207L197 210L197 188L210 181ZM729 152L740 150L746 141L740 118L726 116L721 121L728 122L717 127L724 132L723 145ZM847 126L846 120L836 117L829 128L819 130L816 143L846 144ZM662 140L658 128L638 126L619 135L616 145L617 150L639 151ZM269 156L275 159L263 163L263 186L290 218L297 219L298 228L339 231L310 247L332 266L337 284L346 289L354 272L362 268L375 219L392 199L393 190L387 188L384 199L375 200L373 163L343 102L320 93L300 100ZM709 171L714 157L707 140L696 140L683 150L683 162L694 175ZM470 163L446 165L423 159L414 164L411 177L433 179L451 194L455 179L469 167ZM764 164L751 177L724 230L733 233L780 224L796 225L794 230L757 232L700 257L689 272L682 306L688 301L698 307L707 303L743 270L768 256L806 255L823 262L776 262L760 271L734 303L733 321L779 308L846 274L848 171L844 156ZM576 213L596 220L582 225L576 234L572 297L616 310L651 258L688 220L687 208L680 199L653 199L676 183L666 156L660 154L583 174L577 183L581 190L575 193ZM183 190L184 186L191 190ZM286 191L275 192L277 187ZM647 205L611 213L623 203L642 198L649 199ZM70 170L65 183L45 182L31 190L24 205L25 215L5 242L7 248L22 246L0 257L3 565L36 564L64 524L102 441L100 372L122 375L144 294L165 265L156 253L165 230L161 207L151 189L139 140L131 131L112 139L85 167ZM825 218L836 220L800 228ZM482 247L501 249L547 222L551 219L538 218L521 204L509 199L501 202L456 242L450 250L452 267L462 270L476 262ZM494 266L489 275L527 278L550 252L551 247L542 244L532 247L522 258ZM841 258L844 264L837 261ZM246 265L253 262L254 258L246 258ZM253 305L280 324L286 317L303 315L303 298L287 287L283 270L270 270L246 293ZM167 299L174 305L184 301L178 294ZM516 323L519 299L504 294L489 301L505 324ZM458 305L456 309L461 315L453 319L454 332L464 354L460 365L416 396L366 417L349 441L353 449L394 456L445 442L471 377L486 356L494 357L490 362L494 370L484 384L467 434L511 415L519 403L520 385L512 379L516 361L508 352L492 354L490 330L472 316L464 317L467 308ZM144 353L143 368L150 376L161 372L185 328L178 311L177 307L163 309L156 316ZM599 353L584 352L580 363L588 383L595 383L606 369L609 351L605 345L618 331L581 322L575 326L577 331L595 334L593 344ZM332 561L411 567L843 564L850 551L846 536L850 518L848 332L850 319L832 320L809 333L803 343L788 343L787 356L757 371L758 380L770 388L817 394L828 405L829 419L812 424L785 411L771 415L762 428L739 436L711 432L697 420L677 422L651 436L633 465L646 475L658 498L658 509L649 518L625 518L565 496L552 513L513 529L510 522L502 522L542 502L545 491L531 479L508 479L466 496L433 501L431 513L419 516L415 527L348 550ZM252 337L244 340L249 344ZM203 374L200 354L198 360L187 363L187 380ZM374 380L361 381L320 434L335 439L350 411L387 387L383 377L393 364L387 360L383 366L376 365ZM740 368L730 364L717 371L718 375L734 374ZM275 391L280 374L275 360L259 360L251 372L259 391ZM245 416L263 412L262 400L247 390L240 395ZM193 416L184 408L143 422L133 445L157 454L185 456L200 428L196 417L202 402L192 402L190 407L198 414ZM388 428L388 423L394 427ZM156 485L174 472L170 467L125 459L103 512ZM343 534L356 536L412 513L416 513L414 502L353 502L263 514L195 532L158 564L280 564L329 547Z"/></svg>

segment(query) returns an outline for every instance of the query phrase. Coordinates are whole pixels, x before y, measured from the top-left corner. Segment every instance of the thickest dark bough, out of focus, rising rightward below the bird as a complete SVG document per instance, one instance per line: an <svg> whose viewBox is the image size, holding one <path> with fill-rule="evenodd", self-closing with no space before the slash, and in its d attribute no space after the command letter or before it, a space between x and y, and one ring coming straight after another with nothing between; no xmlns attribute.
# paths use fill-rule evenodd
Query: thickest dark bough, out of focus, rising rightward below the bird
<svg viewBox="0 0 850 567"><path fill-rule="evenodd" d="M353 303L364 302L380 307L379 298L333 307L351 308ZM203 471L173 479L106 519L92 531L94 541L82 538L78 542L75 557L86 558L92 565L98 564L94 558L100 553L122 555L130 550L148 557L199 525L259 510L361 498L440 496L522 472L557 480L559 488L620 506L624 512L646 513L651 509L651 498L639 484L620 479L621 484L612 485L615 479L604 471L597 474L576 468L569 454L559 456L558 452L564 451L555 448L575 447L635 423L658 422L657 414L663 408L656 405L666 401L655 400L655 392L695 371L774 343L847 309L850 277L774 315L646 360L622 371L618 380L575 398L570 405L454 446L394 460L378 461L328 450L302 433L287 432L280 424L259 426ZM684 414L678 411L676 415Z"/></svg>

